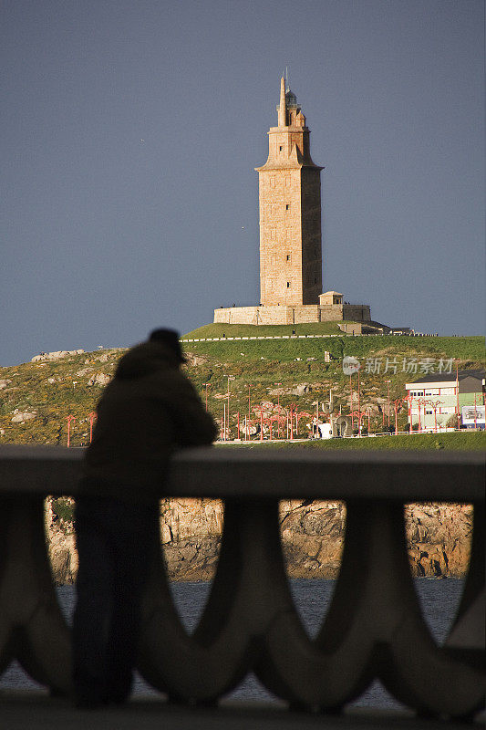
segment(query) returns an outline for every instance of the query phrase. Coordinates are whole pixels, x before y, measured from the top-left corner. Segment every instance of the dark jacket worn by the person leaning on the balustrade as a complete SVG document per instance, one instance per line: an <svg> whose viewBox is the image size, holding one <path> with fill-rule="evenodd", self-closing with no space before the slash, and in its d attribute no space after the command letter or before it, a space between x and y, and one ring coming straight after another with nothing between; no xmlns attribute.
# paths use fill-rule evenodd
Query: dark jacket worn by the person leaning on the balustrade
<svg viewBox="0 0 486 730"><path fill-rule="evenodd" d="M137 345L119 360L97 413L85 493L151 503L161 495L171 454L216 437L177 356L160 342Z"/></svg>

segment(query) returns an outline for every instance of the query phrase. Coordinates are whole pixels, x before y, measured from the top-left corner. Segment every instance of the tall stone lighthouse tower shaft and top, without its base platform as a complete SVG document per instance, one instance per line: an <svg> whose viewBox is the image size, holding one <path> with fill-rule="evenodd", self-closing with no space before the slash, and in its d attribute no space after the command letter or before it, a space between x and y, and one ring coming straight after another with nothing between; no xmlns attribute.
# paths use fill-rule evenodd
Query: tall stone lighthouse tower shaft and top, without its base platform
<svg viewBox="0 0 486 730"><path fill-rule="evenodd" d="M321 183L295 94L280 81L278 125L268 160L255 170L260 197L260 297L264 307L319 304L322 292Z"/></svg>

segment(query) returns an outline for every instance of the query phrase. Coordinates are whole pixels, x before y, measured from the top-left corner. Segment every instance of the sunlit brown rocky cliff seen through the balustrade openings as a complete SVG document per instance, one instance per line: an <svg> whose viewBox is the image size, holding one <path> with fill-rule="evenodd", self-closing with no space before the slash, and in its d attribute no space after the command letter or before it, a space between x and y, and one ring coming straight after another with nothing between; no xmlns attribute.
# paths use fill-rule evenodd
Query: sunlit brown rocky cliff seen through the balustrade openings
<svg viewBox="0 0 486 730"><path fill-rule="evenodd" d="M57 583L71 583L78 556L69 506L64 517L47 500L49 555ZM470 555L472 507L420 504L406 507L410 569L414 576L461 577ZM160 536L174 580L209 580L221 544L222 503L209 499L165 499L160 503ZM291 578L336 578L346 527L341 502L282 502L281 534Z"/></svg>

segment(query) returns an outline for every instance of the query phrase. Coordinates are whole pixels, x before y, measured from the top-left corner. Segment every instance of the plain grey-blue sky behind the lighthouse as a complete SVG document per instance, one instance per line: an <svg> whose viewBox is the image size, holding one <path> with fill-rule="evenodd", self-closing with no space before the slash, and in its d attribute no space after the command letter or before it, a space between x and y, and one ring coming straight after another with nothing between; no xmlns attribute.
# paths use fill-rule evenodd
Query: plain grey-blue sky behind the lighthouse
<svg viewBox="0 0 486 730"><path fill-rule="evenodd" d="M387 324L484 331L482 0L0 13L0 365L258 303L253 167L285 66L326 166L325 289Z"/></svg>

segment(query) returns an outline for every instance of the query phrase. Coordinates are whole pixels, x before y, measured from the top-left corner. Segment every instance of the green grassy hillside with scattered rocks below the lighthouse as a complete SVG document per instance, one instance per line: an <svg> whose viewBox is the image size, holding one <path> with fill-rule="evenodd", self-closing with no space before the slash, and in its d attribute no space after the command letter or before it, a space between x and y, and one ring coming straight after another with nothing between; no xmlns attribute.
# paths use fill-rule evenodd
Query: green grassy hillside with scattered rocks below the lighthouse
<svg viewBox="0 0 486 730"><path fill-rule="evenodd" d="M338 334L335 322L272 328L207 325L188 333L184 339L221 337L223 332L226 338L268 336L270 333L290 335L293 328L297 335ZM333 407L347 413L349 377L344 375L341 363L345 355L363 358L363 369L360 373L361 407L369 407L372 430L382 430L384 413L385 423L388 425L387 380L391 381L389 394L392 402L406 394L406 381L417 380L420 375L419 370L416 374L404 372L404 359L408 362L415 358L419 362L423 358L437 361L439 358L456 358L460 369L479 368L484 358L484 339L339 335L326 339L226 339L219 342L190 342L184 344L184 349L188 356L186 371L201 393L203 401L206 396L205 383L208 383L208 407L218 422L221 422L224 404L227 403L227 376L230 376L230 422L232 435L235 436L237 413L240 413L240 420L243 422L244 415L248 415L249 395L252 417L253 408L262 402L273 403L274 407L279 402L284 408L295 404L299 411L314 413L316 402L319 410L323 410L323 405L327 407L330 391ZM325 350L335 360L325 362ZM15 367L0 368L0 443L66 444L69 415L76 418L76 422L72 423L71 444L88 443L89 413L95 410L103 382L109 380L123 351L97 350L60 360L27 362ZM367 358L381 359L382 368L379 373L366 371ZM389 361L396 359L396 373L383 372L387 358ZM355 377L355 408L356 387ZM308 420L305 417L302 419L303 433ZM393 422L393 415L391 420ZM398 427L403 428L405 422L406 410L401 409ZM378 447L378 441L381 448L382 440L373 440L372 443ZM410 438L411 443L418 441L419 439ZM398 442L394 445L397 448ZM443 445L450 448L447 440Z"/></svg>

